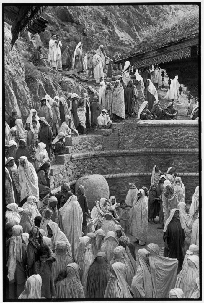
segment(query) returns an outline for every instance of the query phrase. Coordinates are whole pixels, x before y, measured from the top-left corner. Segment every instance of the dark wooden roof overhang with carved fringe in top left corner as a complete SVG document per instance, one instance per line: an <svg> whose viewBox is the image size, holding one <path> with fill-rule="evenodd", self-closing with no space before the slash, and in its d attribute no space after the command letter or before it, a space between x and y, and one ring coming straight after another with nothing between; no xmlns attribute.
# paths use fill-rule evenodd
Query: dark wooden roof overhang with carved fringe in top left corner
<svg viewBox="0 0 204 303"><path fill-rule="evenodd" d="M33 35L45 31L48 21L40 14L46 7L46 5L3 5L4 21L11 25L11 48L19 33L21 37L26 30Z"/></svg>

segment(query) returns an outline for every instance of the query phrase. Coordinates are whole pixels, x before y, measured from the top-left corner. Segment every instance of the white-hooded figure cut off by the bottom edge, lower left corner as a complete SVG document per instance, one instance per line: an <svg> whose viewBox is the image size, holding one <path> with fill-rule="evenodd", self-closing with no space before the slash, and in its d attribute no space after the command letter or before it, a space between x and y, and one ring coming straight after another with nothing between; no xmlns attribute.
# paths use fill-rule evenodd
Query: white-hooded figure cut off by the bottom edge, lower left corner
<svg viewBox="0 0 204 303"><path fill-rule="evenodd" d="M24 286L24 291L18 299L41 299L42 278L40 275L29 277Z"/></svg>

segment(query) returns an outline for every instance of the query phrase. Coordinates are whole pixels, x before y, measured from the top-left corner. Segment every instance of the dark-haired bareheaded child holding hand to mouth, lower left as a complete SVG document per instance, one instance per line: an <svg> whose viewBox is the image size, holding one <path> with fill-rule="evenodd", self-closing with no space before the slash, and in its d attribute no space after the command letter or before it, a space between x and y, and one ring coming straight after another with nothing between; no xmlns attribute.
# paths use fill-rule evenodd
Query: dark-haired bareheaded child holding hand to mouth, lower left
<svg viewBox="0 0 204 303"><path fill-rule="evenodd" d="M42 297L52 298L55 295L54 281L52 278L52 263L55 261L54 255L50 256L48 246L40 247L38 261L35 262L35 274L42 278Z"/></svg>

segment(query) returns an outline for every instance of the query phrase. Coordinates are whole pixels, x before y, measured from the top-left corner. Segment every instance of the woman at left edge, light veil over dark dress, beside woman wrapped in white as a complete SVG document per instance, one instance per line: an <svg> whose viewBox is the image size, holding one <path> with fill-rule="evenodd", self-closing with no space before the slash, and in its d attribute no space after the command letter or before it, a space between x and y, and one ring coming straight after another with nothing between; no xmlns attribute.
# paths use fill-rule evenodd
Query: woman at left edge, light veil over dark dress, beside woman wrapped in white
<svg viewBox="0 0 204 303"><path fill-rule="evenodd" d="M15 164L14 158L9 157L5 163L5 167L8 169L9 175L11 177L15 203L19 204L20 203L19 176L18 176L18 168Z"/></svg>

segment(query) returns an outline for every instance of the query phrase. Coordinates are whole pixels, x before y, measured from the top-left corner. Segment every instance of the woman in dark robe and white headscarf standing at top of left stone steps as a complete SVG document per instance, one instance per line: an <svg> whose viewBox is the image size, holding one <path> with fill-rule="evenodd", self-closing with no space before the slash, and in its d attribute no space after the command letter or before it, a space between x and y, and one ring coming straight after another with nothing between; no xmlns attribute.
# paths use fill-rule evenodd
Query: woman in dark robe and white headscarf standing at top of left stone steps
<svg viewBox="0 0 204 303"><path fill-rule="evenodd" d="M47 150L47 154L48 154L48 157L49 157L50 161L52 161L52 158L53 158L53 151L52 151L53 132L52 132L52 128L47 123L47 121L44 117L41 117L39 119L39 123L40 123L40 129L39 129L39 132L38 132L38 139L40 140L40 142L43 142L44 144L46 144L45 149Z"/></svg>

